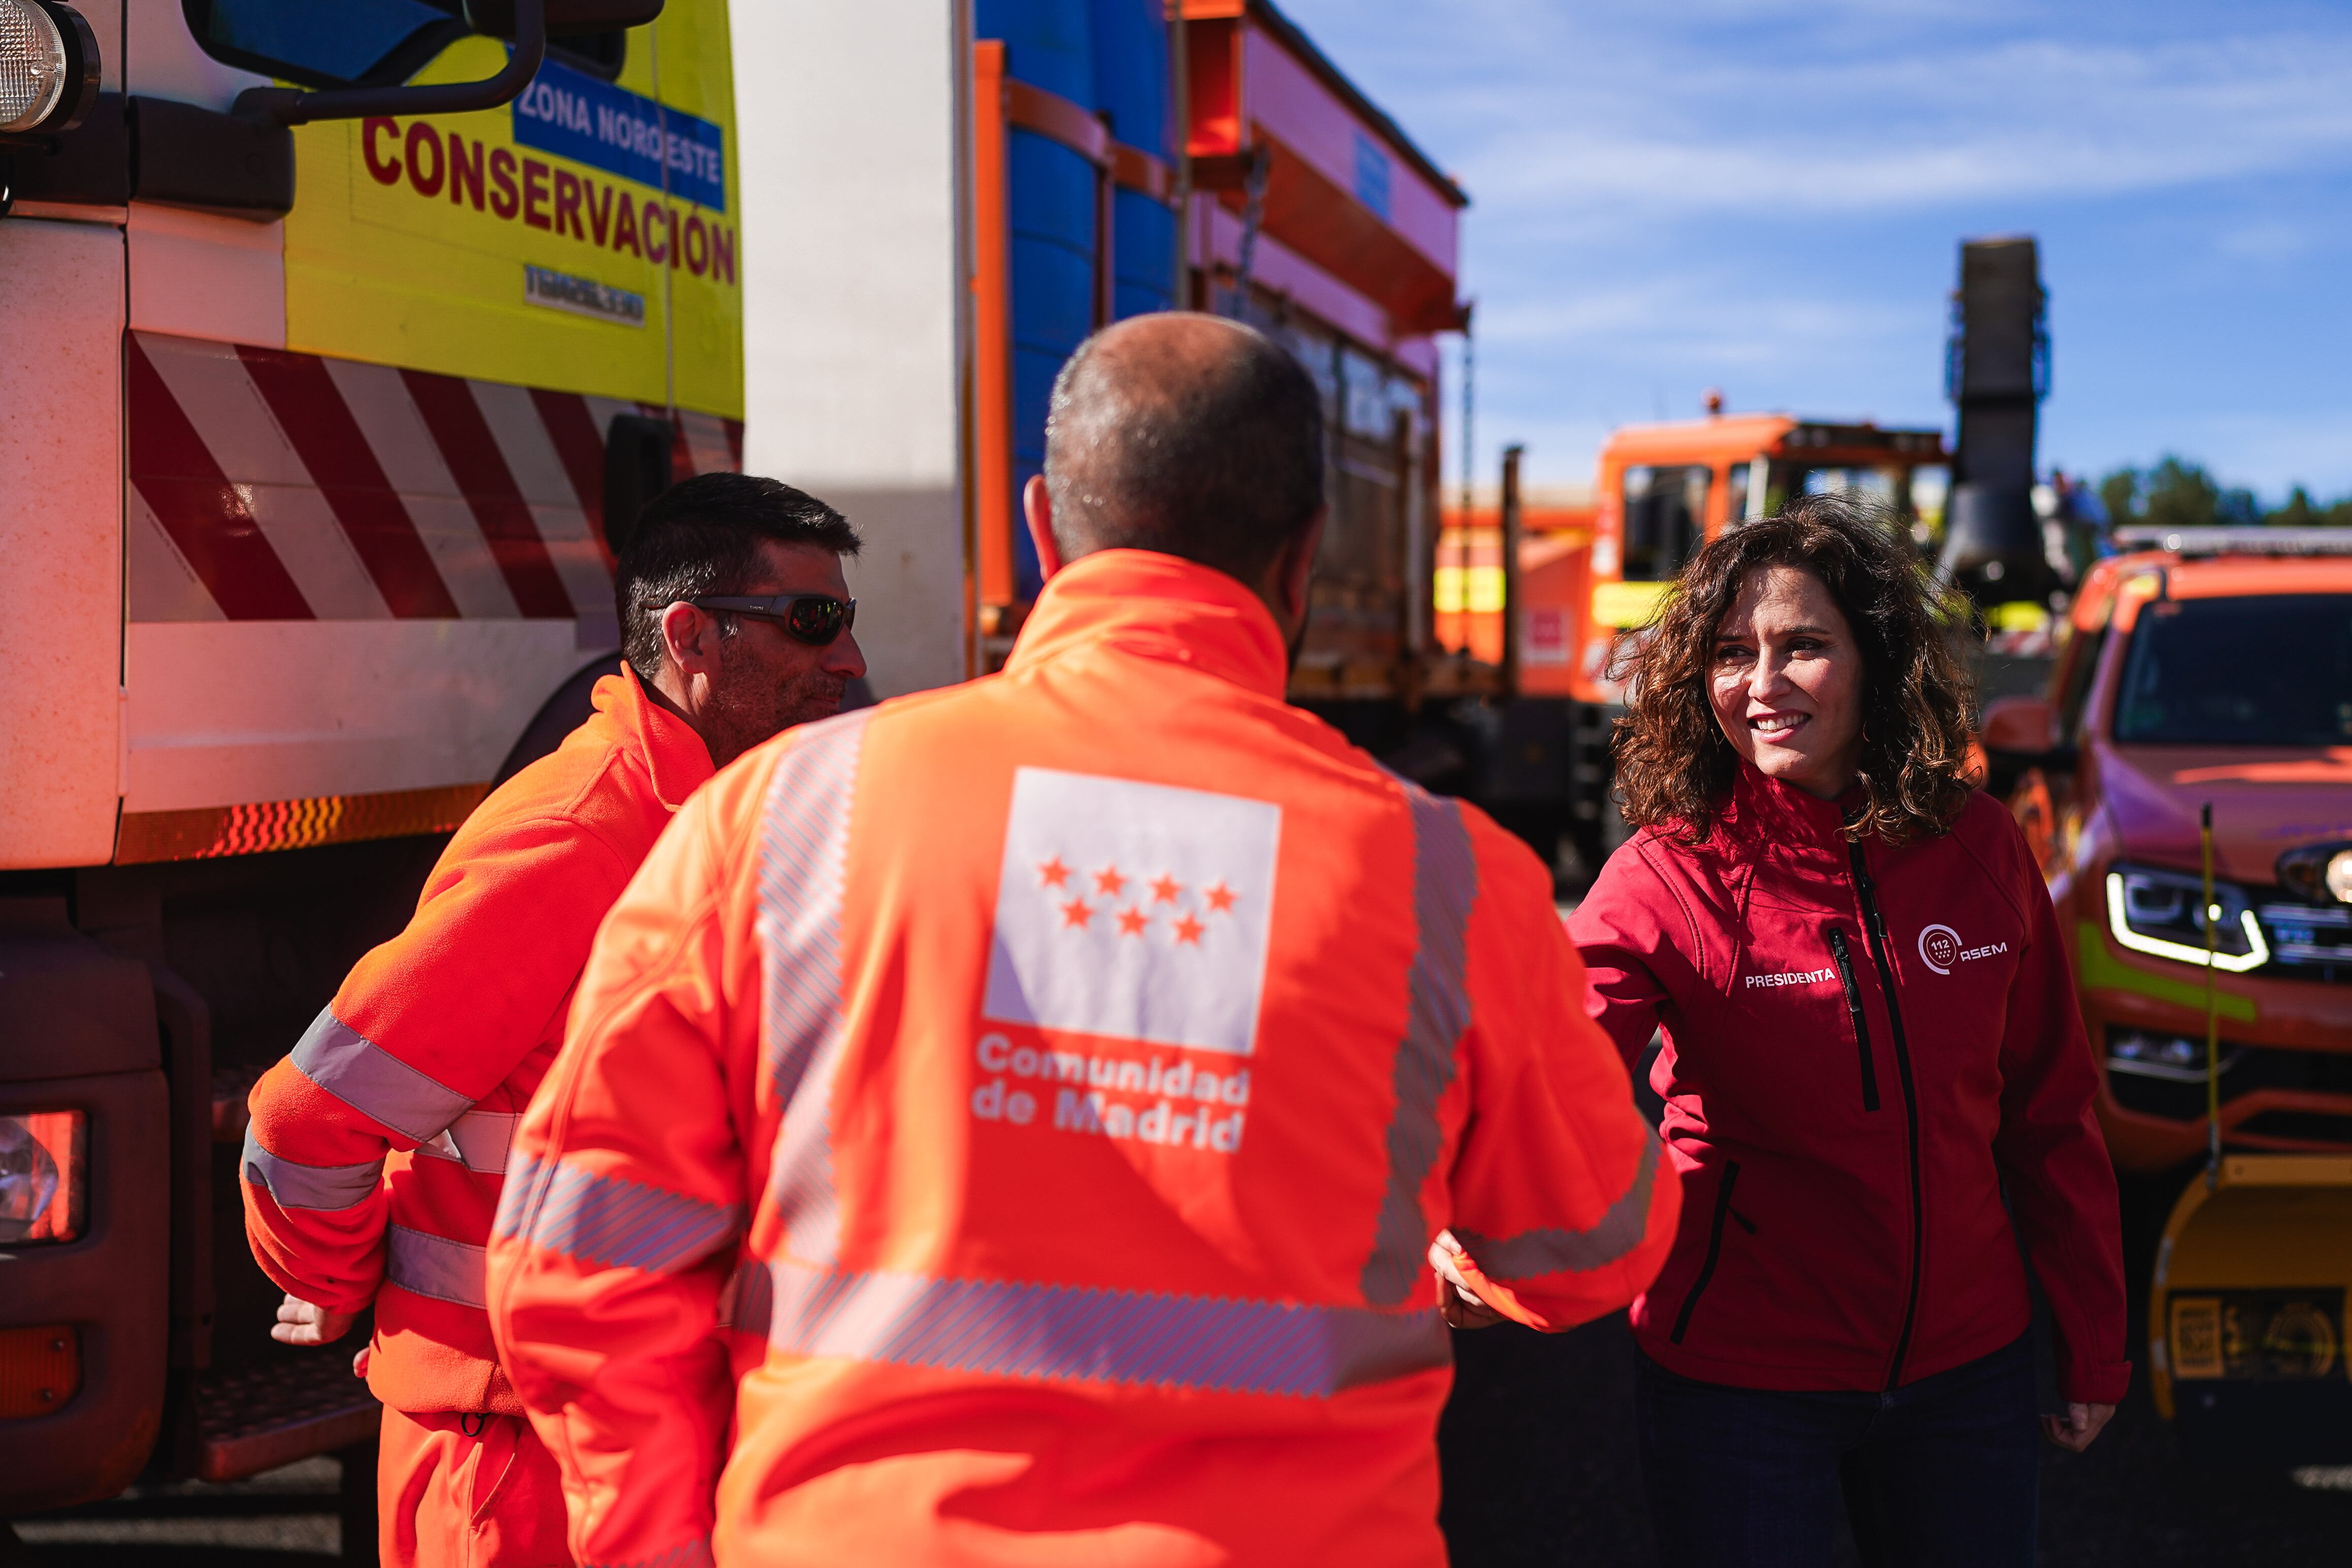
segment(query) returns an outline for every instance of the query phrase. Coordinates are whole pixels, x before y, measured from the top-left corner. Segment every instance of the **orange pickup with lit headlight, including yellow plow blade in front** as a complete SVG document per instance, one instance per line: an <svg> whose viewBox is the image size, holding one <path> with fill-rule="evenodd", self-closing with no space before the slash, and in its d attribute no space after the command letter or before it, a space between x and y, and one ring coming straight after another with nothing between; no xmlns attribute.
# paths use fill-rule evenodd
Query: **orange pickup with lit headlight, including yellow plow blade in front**
<svg viewBox="0 0 2352 1568"><path fill-rule="evenodd" d="M2347 1462L2352 531L2122 543L1983 743L2074 943L2117 1166L2206 1164L2157 1253L2157 1406L2216 1455Z"/></svg>

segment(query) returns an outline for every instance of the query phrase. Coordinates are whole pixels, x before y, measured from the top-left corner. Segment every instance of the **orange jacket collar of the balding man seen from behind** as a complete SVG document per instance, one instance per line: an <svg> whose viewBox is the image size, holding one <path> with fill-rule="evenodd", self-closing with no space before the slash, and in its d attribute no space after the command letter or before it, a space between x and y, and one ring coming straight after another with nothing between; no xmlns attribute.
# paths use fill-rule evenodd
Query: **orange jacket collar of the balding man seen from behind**
<svg viewBox="0 0 2352 1568"><path fill-rule="evenodd" d="M1096 646L1190 665L1270 698L1289 684L1289 651L1258 595L1214 567L1157 550L1096 550L1056 571L1004 672Z"/></svg>

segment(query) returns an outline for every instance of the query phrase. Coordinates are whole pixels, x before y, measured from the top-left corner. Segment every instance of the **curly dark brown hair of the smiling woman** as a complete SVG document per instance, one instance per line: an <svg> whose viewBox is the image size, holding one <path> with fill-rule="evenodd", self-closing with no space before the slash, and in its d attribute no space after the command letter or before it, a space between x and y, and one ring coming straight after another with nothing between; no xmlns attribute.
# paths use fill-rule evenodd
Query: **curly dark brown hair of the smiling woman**
<svg viewBox="0 0 2352 1568"><path fill-rule="evenodd" d="M1759 567L1818 576L1863 656L1867 799L1846 835L1905 844L1945 832L1971 788L1973 682L1952 644L1973 611L1936 585L1891 510L1851 494L1802 496L1710 541L1682 569L1653 635L1621 656L1632 698L1611 750L1625 820L1684 842L1712 832L1738 769L1708 703L1715 628Z"/></svg>

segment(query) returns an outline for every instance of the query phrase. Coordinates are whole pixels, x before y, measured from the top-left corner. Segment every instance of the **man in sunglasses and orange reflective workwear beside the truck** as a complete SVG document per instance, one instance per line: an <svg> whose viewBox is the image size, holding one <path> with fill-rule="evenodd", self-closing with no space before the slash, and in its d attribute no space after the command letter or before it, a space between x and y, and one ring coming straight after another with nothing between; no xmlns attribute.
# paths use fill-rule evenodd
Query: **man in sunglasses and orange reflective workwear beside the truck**
<svg viewBox="0 0 2352 1568"><path fill-rule="evenodd" d="M840 710L866 672L840 512L713 473L621 550L626 663L595 715L482 802L416 917L254 1086L245 1227L285 1291L273 1335L341 1338L383 1401L386 1563L569 1563L555 1462L482 1314L482 1244L597 922L670 813L743 750Z"/></svg>

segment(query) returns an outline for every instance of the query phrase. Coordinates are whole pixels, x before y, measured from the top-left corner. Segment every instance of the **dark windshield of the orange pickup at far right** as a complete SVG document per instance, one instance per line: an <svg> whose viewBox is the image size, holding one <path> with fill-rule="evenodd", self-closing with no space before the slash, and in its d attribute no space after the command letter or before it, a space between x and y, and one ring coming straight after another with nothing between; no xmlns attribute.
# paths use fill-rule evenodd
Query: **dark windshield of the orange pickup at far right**
<svg viewBox="0 0 2352 1568"><path fill-rule="evenodd" d="M2138 745L2352 745L2352 592L2157 599L2114 703Z"/></svg>

